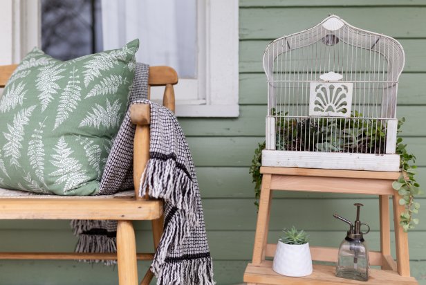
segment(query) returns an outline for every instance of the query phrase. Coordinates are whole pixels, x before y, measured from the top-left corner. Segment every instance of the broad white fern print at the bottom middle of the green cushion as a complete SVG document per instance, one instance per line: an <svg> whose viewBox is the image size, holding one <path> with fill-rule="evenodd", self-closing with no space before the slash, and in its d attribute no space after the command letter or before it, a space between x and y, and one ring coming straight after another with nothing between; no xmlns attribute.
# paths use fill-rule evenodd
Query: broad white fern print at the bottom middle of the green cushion
<svg viewBox="0 0 426 285"><path fill-rule="evenodd" d="M55 181L55 185L62 185L64 183L64 193L73 190L77 185L89 181L90 178L82 169L82 165L79 161L70 157L74 151L68 147L64 136L59 138L53 150L56 151L56 154L52 154L53 160L49 161L57 167L57 170L50 173L50 175L59 176Z"/></svg>

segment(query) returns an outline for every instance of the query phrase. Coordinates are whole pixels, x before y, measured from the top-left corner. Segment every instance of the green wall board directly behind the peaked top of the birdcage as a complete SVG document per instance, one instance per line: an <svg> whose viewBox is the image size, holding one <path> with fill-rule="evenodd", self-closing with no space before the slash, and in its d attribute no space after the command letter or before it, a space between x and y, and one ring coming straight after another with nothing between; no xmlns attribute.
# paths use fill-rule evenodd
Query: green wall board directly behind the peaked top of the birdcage
<svg viewBox="0 0 426 285"><path fill-rule="evenodd" d="M241 39L275 39L311 28L329 14L391 37L426 37L426 7L313 7L240 9ZM389 21L392 19L392 21ZM403 21L403 24L401 24Z"/></svg>

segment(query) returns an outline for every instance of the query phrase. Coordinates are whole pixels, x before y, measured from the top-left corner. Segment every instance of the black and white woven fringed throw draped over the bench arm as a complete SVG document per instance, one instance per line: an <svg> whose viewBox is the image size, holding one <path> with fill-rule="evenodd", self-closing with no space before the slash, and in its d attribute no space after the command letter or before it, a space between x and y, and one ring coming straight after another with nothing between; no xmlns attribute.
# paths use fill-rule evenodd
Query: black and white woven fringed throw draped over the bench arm
<svg viewBox="0 0 426 285"><path fill-rule="evenodd" d="M165 227L151 264L157 284L214 284L203 208L189 147L169 109L147 100L149 66L137 64L131 104L151 104L150 159L140 195L163 199ZM133 137L129 109L104 169L100 194L133 187ZM72 221L77 252L115 252L116 221Z"/></svg>

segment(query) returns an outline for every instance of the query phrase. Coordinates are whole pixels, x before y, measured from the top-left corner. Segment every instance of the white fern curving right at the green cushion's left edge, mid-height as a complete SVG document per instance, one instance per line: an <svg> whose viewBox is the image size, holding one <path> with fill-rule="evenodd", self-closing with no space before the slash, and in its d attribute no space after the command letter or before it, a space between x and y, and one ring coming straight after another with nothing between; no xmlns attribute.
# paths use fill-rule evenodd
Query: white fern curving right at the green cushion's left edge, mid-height
<svg viewBox="0 0 426 285"><path fill-rule="evenodd" d="M21 157L22 148L21 141L24 140L24 125L28 125L29 118L35 109L35 105L26 109L21 109L13 117L13 125L8 126L8 133L3 132L3 136L8 140L8 143L3 145L3 151L5 151L5 157L10 156L10 165L15 167L21 167L18 159Z"/></svg>

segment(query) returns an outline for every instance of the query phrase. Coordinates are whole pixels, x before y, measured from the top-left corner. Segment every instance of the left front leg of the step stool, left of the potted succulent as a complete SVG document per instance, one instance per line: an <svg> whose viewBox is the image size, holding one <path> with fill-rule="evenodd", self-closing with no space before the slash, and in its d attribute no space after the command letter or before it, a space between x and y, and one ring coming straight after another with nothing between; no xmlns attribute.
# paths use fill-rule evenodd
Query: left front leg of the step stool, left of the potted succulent
<svg viewBox="0 0 426 285"><path fill-rule="evenodd" d="M265 259L266 242L268 241L268 221L270 215L270 174L263 174L262 187L257 213L256 235L254 237L253 264L260 264Z"/></svg>

